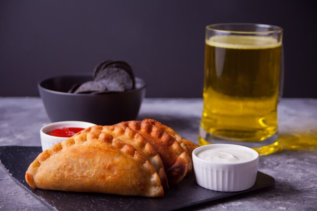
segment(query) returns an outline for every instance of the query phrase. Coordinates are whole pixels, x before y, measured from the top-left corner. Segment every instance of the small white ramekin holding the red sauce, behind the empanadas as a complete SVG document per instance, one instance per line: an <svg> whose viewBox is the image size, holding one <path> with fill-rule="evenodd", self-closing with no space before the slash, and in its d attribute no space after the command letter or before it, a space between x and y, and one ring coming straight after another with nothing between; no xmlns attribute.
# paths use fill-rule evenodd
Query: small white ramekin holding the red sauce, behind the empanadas
<svg viewBox="0 0 317 211"><path fill-rule="evenodd" d="M94 125L96 124L86 122L86 121L58 121L58 122L53 122L53 123L44 125L39 131L39 135L41 136L42 150L44 151L46 149L49 149L54 144L57 144L58 142L68 139L68 137L56 137L56 136L48 135L47 133L52 130L64 128L64 127L86 129Z"/></svg>

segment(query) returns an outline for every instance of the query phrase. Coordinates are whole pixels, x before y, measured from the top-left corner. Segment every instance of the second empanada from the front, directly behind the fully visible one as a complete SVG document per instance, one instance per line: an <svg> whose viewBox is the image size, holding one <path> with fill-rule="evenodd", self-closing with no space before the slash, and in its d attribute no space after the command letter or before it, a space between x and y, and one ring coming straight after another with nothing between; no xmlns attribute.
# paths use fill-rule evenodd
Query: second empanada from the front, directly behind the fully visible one
<svg viewBox="0 0 317 211"><path fill-rule="evenodd" d="M160 154L152 146L147 139L145 139L138 132L126 127L119 125L103 126L102 132L110 134L111 136L121 139L122 141L131 144L139 152L143 153L145 157L150 161L156 170L156 173L161 179L161 184L165 189L169 189L168 181L164 171L164 165Z"/></svg>

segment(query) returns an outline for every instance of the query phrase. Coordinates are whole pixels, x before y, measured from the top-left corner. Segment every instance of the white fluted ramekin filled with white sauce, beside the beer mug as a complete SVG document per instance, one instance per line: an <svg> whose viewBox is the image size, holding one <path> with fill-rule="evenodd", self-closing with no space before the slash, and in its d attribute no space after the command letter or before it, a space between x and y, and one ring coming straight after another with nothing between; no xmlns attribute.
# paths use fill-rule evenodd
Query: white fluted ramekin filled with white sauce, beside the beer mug
<svg viewBox="0 0 317 211"><path fill-rule="evenodd" d="M222 150L224 149L224 150ZM214 158L204 158L205 150L222 151L224 153L218 156L220 160L212 161ZM230 155L230 152L242 151L248 154L246 160L239 160ZM207 151L205 151L206 153ZM211 152L210 156L215 156ZM208 153L207 153L208 154ZM206 155L206 154L205 154ZM209 156L209 155L208 155ZM234 144L210 144L198 147L192 152L192 161L196 182L200 186L215 191L242 191L251 188L256 180L259 163L259 154L257 151L240 145Z"/></svg>

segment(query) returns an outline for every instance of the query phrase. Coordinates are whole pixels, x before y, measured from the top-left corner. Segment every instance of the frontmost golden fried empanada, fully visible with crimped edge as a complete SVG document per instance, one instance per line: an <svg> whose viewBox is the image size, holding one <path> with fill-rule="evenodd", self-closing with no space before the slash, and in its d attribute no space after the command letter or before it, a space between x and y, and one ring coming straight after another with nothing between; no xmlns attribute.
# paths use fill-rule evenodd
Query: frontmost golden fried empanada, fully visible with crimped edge
<svg viewBox="0 0 317 211"><path fill-rule="evenodd" d="M93 126L37 156L25 175L32 188L163 196L154 167L132 145Z"/></svg>

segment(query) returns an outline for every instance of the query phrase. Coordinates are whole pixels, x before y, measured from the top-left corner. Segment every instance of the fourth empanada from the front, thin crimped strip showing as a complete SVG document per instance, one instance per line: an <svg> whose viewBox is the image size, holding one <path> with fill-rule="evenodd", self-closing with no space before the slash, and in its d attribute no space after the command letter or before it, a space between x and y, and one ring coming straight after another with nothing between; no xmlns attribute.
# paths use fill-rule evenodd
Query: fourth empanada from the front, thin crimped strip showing
<svg viewBox="0 0 317 211"><path fill-rule="evenodd" d="M185 150L185 152L187 153L187 160L188 160L188 170L187 173L191 173L192 171L192 160L191 160L191 156L189 155L189 152L186 148L186 145L183 143L183 139L182 137L176 133L172 128L170 128L167 125L162 124L159 121L156 121L154 119L143 119L142 121L153 124L157 127L159 127L160 129L162 129L163 131L165 131L166 133L170 134L171 136L174 137L174 139L176 139L176 141L178 141L178 143L183 147L183 149Z"/></svg>

